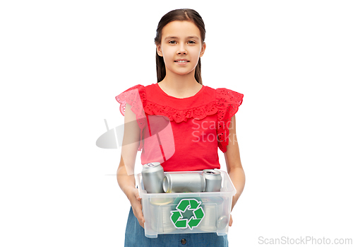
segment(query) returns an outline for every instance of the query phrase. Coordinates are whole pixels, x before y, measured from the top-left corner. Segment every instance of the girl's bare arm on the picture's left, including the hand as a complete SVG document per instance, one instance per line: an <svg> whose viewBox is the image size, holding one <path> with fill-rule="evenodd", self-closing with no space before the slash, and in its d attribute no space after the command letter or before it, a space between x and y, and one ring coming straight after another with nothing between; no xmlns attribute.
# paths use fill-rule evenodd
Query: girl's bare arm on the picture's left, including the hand
<svg viewBox="0 0 353 247"><path fill-rule="evenodd" d="M136 115L131 111L131 105L126 104L124 117L124 139L121 147L121 159L119 168L116 171L116 179L121 190L130 201L138 222L143 227L145 219L142 214L142 205L138 195L138 189L135 188L134 167L136 154L140 142L140 127L136 121Z"/></svg>

